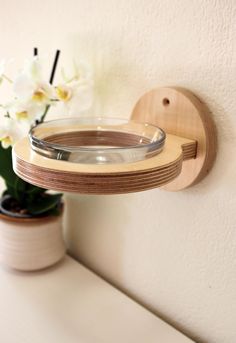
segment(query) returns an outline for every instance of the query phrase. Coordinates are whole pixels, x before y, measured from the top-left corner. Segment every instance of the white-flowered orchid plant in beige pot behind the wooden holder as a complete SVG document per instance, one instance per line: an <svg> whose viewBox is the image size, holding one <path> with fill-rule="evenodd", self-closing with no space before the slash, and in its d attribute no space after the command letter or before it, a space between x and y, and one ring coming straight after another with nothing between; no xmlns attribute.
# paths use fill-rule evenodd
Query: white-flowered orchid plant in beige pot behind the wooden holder
<svg viewBox="0 0 236 343"><path fill-rule="evenodd" d="M7 63L0 63L0 86L9 84L12 92L10 101L0 101L0 176L6 187L0 197L0 261L21 270L41 269L64 256L63 206L62 194L31 185L14 173L12 146L44 122L51 107L60 106L71 116L92 104L92 73L84 62L74 63L70 76L62 69L63 82L53 85L59 54L49 81L43 78L37 49L14 79L7 74Z"/></svg>

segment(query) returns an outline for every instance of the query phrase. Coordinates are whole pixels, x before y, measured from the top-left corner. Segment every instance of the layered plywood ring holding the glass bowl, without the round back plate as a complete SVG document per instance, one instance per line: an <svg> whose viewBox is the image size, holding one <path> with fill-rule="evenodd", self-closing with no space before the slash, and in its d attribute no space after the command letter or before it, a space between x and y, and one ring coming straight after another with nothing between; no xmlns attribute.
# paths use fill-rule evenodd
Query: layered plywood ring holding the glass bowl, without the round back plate
<svg viewBox="0 0 236 343"><path fill-rule="evenodd" d="M124 164L79 164L43 157L28 139L13 149L15 172L40 187L87 194L119 194L160 187L176 178L184 159L196 154L196 142L167 135L163 152L144 161Z"/></svg>

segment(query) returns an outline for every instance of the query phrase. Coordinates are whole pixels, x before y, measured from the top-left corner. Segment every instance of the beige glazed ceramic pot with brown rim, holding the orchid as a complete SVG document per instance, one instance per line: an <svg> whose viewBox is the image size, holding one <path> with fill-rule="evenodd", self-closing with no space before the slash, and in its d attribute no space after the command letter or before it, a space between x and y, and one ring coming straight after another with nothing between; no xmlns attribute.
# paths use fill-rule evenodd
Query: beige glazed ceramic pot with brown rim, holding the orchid
<svg viewBox="0 0 236 343"><path fill-rule="evenodd" d="M0 214L0 263L22 271L49 267L65 255L62 214L13 218Z"/></svg>

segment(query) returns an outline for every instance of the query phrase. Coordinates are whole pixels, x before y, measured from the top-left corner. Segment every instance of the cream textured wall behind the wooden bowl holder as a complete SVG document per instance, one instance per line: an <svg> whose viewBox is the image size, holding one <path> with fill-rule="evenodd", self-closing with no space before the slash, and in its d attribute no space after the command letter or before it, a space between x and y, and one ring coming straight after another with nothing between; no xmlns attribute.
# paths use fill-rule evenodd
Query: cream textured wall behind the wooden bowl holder
<svg viewBox="0 0 236 343"><path fill-rule="evenodd" d="M94 65L93 115L128 117L163 85L189 88L211 109L219 147L206 179L179 193L68 194L67 241L80 261L199 342L236 342L236 2L0 5L1 56L59 47L64 64L80 56Z"/></svg>

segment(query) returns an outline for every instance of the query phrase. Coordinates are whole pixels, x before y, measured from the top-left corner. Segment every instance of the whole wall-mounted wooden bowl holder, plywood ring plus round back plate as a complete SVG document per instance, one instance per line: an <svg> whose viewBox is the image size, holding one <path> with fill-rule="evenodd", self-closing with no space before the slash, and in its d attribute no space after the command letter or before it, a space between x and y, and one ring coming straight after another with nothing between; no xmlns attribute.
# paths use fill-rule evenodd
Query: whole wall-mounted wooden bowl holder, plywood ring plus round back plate
<svg viewBox="0 0 236 343"><path fill-rule="evenodd" d="M156 187L176 191L208 173L216 151L215 130L206 107L192 93L177 88L153 90L138 101L132 119L166 132L161 153L130 163L73 163L34 152L24 138L13 148L14 170L34 185L82 194L131 193Z"/></svg>

